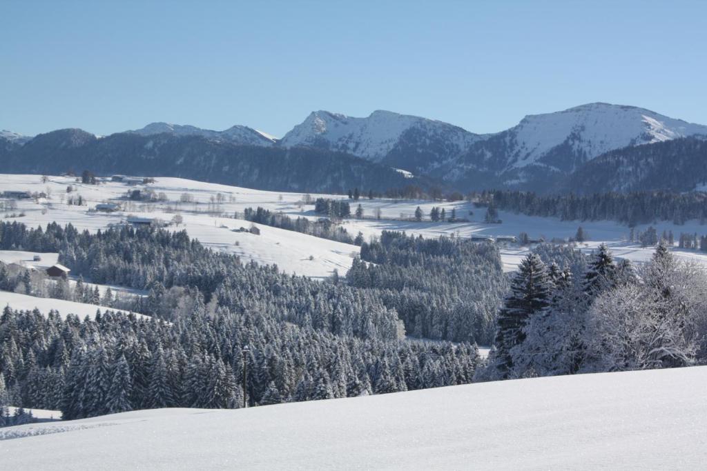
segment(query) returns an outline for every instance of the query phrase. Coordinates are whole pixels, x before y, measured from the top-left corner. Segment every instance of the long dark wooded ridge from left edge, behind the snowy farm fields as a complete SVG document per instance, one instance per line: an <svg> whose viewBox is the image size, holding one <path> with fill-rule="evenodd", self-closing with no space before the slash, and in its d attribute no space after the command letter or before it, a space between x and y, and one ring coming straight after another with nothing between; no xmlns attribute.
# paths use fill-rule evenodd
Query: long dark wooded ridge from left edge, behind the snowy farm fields
<svg viewBox="0 0 707 471"><path fill-rule="evenodd" d="M276 191L385 191L419 183L390 167L329 150L235 145L167 133L96 138L80 129L40 134L25 145L0 139L0 167L10 173L88 169L96 174L160 175Z"/></svg>

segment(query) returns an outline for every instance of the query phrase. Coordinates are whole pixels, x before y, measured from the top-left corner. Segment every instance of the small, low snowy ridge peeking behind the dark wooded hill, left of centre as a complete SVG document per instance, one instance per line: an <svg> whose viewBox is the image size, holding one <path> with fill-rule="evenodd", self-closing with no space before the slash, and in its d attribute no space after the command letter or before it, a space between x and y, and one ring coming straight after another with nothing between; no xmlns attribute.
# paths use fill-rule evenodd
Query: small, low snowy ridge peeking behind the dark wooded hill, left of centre
<svg viewBox="0 0 707 471"><path fill-rule="evenodd" d="M211 129L201 129L196 126L151 123L142 129L128 131L140 134L141 136L153 136L154 134L171 134L172 136L203 136L214 141L226 141L238 145L273 145L276 138L267 133L257 131L248 126L232 126L225 131L212 131Z"/></svg>

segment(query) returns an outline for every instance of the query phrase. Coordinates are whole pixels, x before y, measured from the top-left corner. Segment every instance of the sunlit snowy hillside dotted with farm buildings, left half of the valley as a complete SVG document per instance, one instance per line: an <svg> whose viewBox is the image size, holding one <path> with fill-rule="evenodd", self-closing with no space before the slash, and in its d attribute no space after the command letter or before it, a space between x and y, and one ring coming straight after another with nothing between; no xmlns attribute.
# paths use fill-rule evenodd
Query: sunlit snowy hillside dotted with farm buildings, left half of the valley
<svg viewBox="0 0 707 471"><path fill-rule="evenodd" d="M74 186L74 194L81 195L86 205L66 204L68 185ZM303 193L276 193L167 177L158 177L154 184L130 186L118 181L107 181L100 185L81 184L71 177L49 177L46 183L42 183L40 175L1 174L0 189L49 193L49 198L37 202L18 201L18 210L23 211L25 216L16 220L31 227L58 222L60 225L71 223L78 229L96 232L119 224L131 214L169 221L178 211L183 222L170 226L170 229L187 229L190 237L199 239L205 246L237 254L244 261L276 264L286 273L312 278L325 278L334 269L345 274L351 267L352 254L358 253L358 246L276 227L261 226L259 236L249 232L233 232L233 229L250 227L250 222L233 218L235 211L243 213L245 208L262 206L298 217L304 210L301 204ZM126 203L125 194L134 189L163 193L168 201L152 205L129 203L126 210L115 213L92 211L98 203ZM189 203L179 203L183 195L189 196ZM218 198L223 198L223 201L218 205L212 203ZM0 211L0 215L4 213ZM10 254L4 258L8 263L16 261L15 258L18 261L28 261L32 258L30 255Z"/></svg>

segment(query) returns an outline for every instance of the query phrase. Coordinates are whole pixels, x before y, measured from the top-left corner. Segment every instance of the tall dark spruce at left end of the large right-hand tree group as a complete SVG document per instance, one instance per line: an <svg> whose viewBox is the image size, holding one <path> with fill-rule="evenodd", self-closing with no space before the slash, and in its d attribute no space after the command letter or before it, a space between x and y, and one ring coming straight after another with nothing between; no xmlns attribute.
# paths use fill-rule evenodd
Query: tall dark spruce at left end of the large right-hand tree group
<svg viewBox="0 0 707 471"><path fill-rule="evenodd" d="M513 371L511 350L525 340L525 326L534 316L544 314L551 302L552 282L547 267L536 254L520 262L510 284L510 294L498 313L493 358L489 360L489 378L506 379Z"/></svg>

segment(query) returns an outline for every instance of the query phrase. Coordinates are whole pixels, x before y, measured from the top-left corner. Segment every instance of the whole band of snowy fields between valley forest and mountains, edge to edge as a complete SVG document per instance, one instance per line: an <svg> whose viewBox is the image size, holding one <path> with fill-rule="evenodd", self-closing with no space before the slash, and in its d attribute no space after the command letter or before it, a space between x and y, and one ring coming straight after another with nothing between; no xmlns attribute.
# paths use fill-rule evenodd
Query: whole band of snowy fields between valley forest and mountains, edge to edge
<svg viewBox="0 0 707 471"><path fill-rule="evenodd" d="M72 194L86 198L87 206L64 203L66 186L70 184L76 188ZM128 190L145 188L158 194L164 193L168 201L151 204L133 203L129 210L117 213L88 211L88 208L93 208L97 203L124 202L119 198L122 198ZM334 268L339 270L339 274L344 275L351 267L353 255L359 250L357 246L262 225L258 226L261 230L259 236L247 232L232 232L231 229L250 227L250 222L223 217L223 214L233 215L236 211L243 213L245 208L262 206L291 217L303 216L316 220L320 216L313 212L311 205L302 204L305 197L302 193L260 191L167 177L156 177L154 184L130 186L114 181L107 181L100 185L85 185L76 183L71 177L49 177L49 181L42 183L39 175L0 174L0 191L5 190L49 193L48 199L41 199L38 203L33 200L18 202L18 210L14 212L24 211L25 216L13 220L31 226L46 225L47 222L52 221L62 225L71 222L79 229L96 231L125 220L129 214L171 220L176 213L180 213L184 220L183 224L170 227L186 228L191 237L199 239L206 246L238 254L245 261L276 263L286 273L308 275L313 278L325 278L332 274ZM193 202L177 203L183 195L189 195ZM312 198L319 196L345 198L340 195L312 194L311 196ZM217 202L219 198L222 200L221 203ZM502 224L485 224L484 208L474 208L466 201L446 203L361 198L358 202L351 202L352 213L358 204L363 208L364 219L344 222L344 227L352 236L361 232L365 237L373 237L383 230L404 230L409 234L421 234L424 237L438 237L443 234L455 234L459 237L518 236L520 232L526 232L532 239L544 237L550 240L573 237L578 226L581 225L588 236L588 242L582 246L585 251L591 251L605 242L614 251L614 255L631 261L646 261L653 254L653 249L650 247L642 248L638 244L627 242L628 227L612 221L561 221L556 218L531 217L499 211ZM209 210L214 209L214 205L218 206L217 211L209 213ZM467 219L469 222L416 222L411 219L418 206L426 216L433 206L444 208L448 215L452 213L452 209L455 209L457 217ZM377 210L381 213L380 220L373 219ZM648 225L638 226L636 232L643 231L646 227ZM697 221L689 221L682 226L663 221L657 222L654 227L658 230L658 234L664 230L672 230L676 239L680 232L707 233L707 226L699 225ZM502 246L501 256L504 268L508 271L515 270L528 250L527 247L513 244ZM707 254L698 251L676 251L676 254L682 258L707 264Z"/></svg>

